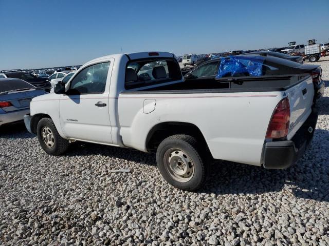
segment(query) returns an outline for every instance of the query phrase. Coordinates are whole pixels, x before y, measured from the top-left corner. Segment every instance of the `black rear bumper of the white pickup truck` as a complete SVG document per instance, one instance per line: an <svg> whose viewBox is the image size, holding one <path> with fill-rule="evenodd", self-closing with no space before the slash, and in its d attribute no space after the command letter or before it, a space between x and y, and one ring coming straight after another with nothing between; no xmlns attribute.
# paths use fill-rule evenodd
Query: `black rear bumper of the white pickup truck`
<svg viewBox="0 0 329 246"><path fill-rule="evenodd" d="M302 157L313 138L317 120L318 113L316 109L313 109L291 140L266 142L263 158L264 168L285 169Z"/></svg>

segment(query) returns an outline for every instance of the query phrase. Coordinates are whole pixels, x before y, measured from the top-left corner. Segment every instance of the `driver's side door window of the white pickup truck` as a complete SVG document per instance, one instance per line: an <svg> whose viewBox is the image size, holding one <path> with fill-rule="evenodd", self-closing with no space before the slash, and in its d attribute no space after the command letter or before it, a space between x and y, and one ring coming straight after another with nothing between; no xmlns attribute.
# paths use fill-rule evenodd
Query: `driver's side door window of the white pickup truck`
<svg viewBox="0 0 329 246"><path fill-rule="evenodd" d="M69 94L100 94L105 91L109 61L82 69L70 83Z"/></svg>

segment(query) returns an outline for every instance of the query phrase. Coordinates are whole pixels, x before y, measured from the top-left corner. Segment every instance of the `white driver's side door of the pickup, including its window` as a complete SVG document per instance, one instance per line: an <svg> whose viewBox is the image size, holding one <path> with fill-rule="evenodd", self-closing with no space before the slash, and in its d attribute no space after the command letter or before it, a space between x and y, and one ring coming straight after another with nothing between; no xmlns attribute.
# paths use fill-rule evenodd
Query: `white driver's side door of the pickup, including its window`
<svg viewBox="0 0 329 246"><path fill-rule="evenodd" d="M113 61L98 61L71 79L59 105L66 137L112 144L108 94Z"/></svg>

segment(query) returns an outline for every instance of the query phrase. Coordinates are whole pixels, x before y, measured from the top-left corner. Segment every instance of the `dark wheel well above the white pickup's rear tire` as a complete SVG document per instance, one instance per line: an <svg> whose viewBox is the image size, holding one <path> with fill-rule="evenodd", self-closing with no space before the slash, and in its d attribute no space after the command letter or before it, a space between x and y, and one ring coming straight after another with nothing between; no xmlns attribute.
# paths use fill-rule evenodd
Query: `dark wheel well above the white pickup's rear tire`
<svg viewBox="0 0 329 246"><path fill-rule="evenodd" d="M191 123L173 121L162 122L151 129L146 139L147 150L156 151L163 139L175 134L186 134L195 137L199 146L206 146L208 149L206 139L197 126Z"/></svg>

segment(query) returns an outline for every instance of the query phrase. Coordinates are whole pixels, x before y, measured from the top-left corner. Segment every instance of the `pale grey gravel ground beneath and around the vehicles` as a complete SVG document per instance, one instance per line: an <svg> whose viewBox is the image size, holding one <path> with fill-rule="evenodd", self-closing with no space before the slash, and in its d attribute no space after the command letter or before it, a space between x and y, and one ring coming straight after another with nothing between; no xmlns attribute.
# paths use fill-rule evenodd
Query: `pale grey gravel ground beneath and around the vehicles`
<svg viewBox="0 0 329 246"><path fill-rule="evenodd" d="M154 154L74 142L53 157L24 126L2 129L0 244L329 245L329 60L317 64L325 95L303 158L219 162L197 193L169 186Z"/></svg>

